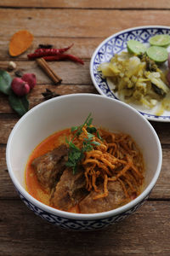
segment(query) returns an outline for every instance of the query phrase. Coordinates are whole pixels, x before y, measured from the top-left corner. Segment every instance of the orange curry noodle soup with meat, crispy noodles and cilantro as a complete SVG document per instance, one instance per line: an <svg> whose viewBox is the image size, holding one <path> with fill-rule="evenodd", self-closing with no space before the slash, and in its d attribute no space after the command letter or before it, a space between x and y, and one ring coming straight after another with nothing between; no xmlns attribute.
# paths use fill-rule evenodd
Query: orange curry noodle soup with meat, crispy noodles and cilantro
<svg viewBox="0 0 170 256"><path fill-rule="evenodd" d="M66 212L121 207L142 192L143 183L143 155L133 138L96 129L91 119L46 138L26 166L27 191Z"/></svg>

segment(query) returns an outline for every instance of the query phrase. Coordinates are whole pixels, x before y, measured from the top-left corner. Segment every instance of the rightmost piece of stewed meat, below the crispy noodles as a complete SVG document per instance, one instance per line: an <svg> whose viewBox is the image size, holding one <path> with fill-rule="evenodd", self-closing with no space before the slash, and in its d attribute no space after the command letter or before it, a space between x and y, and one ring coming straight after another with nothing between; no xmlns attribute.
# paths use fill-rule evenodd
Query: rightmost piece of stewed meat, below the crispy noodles
<svg viewBox="0 0 170 256"><path fill-rule="evenodd" d="M102 190L102 187L99 189ZM106 212L122 205L122 202L126 202L127 199L122 189L121 183L109 182L108 183L109 195L94 200L96 195L99 195L97 192L92 191L88 196L86 196L79 204L81 213L97 213L97 212ZM102 192L101 192L102 193Z"/></svg>

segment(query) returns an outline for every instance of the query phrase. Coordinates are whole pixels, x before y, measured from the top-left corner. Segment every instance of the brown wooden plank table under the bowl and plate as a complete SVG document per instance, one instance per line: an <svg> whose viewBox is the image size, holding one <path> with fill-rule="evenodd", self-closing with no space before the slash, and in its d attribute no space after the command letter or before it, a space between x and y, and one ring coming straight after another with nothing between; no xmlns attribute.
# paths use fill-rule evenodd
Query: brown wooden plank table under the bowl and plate
<svg viewBox="0 0 170 256"><path fill-rule="evenodd" d="M168 0L4 0L0 3L0 67L13 60L24 73L36 73L37 86L29 96L30 108L43 101L46 88L60 95L98 93L90 79L89 63L94 49L115 32L133 26L169 26ZM27 29L34 35L27 52L14 59L8 42L14 32ZM63 79L56 86L26 55L38 44L58 48L74 43L72 61L50 62ZM11 73L14 76L14 72ZM170 255L170 123L151 122L161 140L161 175L144 206L122 223L97 232L61 230L29 210L8 176L5 149L8 135L19 116L0 94L0 255Z"/></svg>

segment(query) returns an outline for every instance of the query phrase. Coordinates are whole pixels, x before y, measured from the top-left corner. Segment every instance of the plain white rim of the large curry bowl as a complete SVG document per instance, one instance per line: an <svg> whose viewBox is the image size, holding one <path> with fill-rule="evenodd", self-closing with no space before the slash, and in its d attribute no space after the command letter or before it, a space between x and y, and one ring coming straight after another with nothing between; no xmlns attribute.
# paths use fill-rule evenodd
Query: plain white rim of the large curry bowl
<svg viewBox="0 0 170 256"><path fill-rule="evenodd" d="M129 108L130 111L133 111L133 113L136 113L137 115L140 116L141 119L143 119L144 123L149 126L150 131L153 133L153 135L154 135L154 137L156 139L156 144L157 144L158 154L159 154L159 161L158 161L158 164L157 164L156 172L154 174L154 177L151 179L151 182L144 189L144 191L137 198L135 198L133 201L130 201L126 205L124 205L122 207L118 207L118 208L113 209L111 211L85 214L85 213L65 212L65 211L58 210L58 209L56 209L54 207L49 207L49 206L43 204L41 201L38 201L37 199L35 199L33 196L31 196L26 191L26 188L24 188L19 183L17 178L14 176L14 172L13 172L12 166L10 164L10 160L9 160L10 143L12 142L12 139L14 137L15 131L18 129L18 127L20 127L20 125L27 118L27 116L31 115L31 113L35 112L38 108L42 108L42 106L50 104L50 102L62 101L62 100L65 100L67 98L70 98L70 97L80 97L80 96L104 98L107 101L114 101L114 102L117 102L117 104L120 104L120 105L124 106L125 108ZM139 113L136 109L132 108L131 106L127 105L124 102L120 102L120 101L118 101L116 99L112 99L112 98L109 98L109 97L105 97L105 96L101 96L101 95L97 95L97 94L91 94L91 93L78 93L78 94L59 96L59 97L55 97L53 99L50 99L50 100L48 100L46 102L41 102L37 106L31 108L24 116L22 116L18 120L18 122L14 125L14 128L13 128L13 130L11 131L11 133L10 133L10 135L8 137L7 148L6 148L6 162L7 162L7 167L8 167L8 174L11 177L11 179L12 179L12 181L14 183L15 188L17 190L19 190L20 194L22 196L24 196L27 201L30 201L36 207L39 207L43 211L48 212L48 213L50 213L50 214L52 214L54 216L57 215L57 216L59 216L61 218L67 218L67 219L70 218L70 219L77 219L77 220L94 220L94 219L99 219L99 218L100 219L101 218L102 219L103 218L111 218L111 217L114 217L116 215L121 214L122 212L127 212L129 209L135 207L136 205L138 205L139 203L144 201L144 199L148 195L150 195L150 191L155 186L157 178L159 177L160 172L161 172L162 151L161 151L161 143L160 143L159 137L156 134L156 131L154 130L152 125L150 125L150 122L147 119L145 119L144 116L141 113Z"/></svg>

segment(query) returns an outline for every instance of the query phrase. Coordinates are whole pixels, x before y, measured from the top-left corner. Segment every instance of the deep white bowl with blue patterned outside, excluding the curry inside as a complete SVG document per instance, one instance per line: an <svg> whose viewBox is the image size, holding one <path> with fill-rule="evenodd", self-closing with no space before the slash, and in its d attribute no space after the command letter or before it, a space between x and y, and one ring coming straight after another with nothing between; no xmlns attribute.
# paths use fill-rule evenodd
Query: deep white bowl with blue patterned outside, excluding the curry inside
<svg viewBox="0 0 170 256"><path fill-rule="evenodd" d="M37 201L26 191L26 162L32 150L55 131L81 125L92 113L94 125L130 134L139 144L146 166L144 191L135 200L109 212L78 214L63 212ZM8 173L20 198L49 223L71 230L98 230L116 224L136 211L147 199L161 171L161 144L156 131L135 109L105 96L76 94L42 102L26 113L8 137Z"/></svg>

